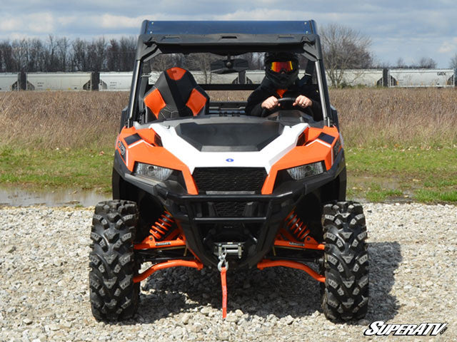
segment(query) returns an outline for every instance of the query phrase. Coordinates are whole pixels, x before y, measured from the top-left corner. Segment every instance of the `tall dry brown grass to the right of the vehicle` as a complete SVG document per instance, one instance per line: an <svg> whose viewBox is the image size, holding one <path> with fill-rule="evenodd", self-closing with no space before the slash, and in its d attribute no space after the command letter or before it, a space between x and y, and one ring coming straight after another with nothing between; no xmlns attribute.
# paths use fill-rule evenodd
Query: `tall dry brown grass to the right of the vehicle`
<svg viewBox="0 0 457 342"><path fill-rule="evenodd" d="M333 89L348 146L457 143L456 89Z"/></svg>

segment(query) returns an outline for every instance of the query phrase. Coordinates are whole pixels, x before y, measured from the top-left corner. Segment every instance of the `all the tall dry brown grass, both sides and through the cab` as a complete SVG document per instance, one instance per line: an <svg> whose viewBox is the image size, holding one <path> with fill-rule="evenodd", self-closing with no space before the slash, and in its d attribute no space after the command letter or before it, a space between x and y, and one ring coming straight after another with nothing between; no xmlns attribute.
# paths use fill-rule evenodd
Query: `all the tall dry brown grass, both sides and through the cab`
<svg viewBox="0 0 457 342"><path fill-rule="evenodd" d="M210 92L214 100L246 100L249 92ZM436 146L457 143L457 90L336 89L346 146ZM0 145L111 146L128 93L0 93Z"/></svg>

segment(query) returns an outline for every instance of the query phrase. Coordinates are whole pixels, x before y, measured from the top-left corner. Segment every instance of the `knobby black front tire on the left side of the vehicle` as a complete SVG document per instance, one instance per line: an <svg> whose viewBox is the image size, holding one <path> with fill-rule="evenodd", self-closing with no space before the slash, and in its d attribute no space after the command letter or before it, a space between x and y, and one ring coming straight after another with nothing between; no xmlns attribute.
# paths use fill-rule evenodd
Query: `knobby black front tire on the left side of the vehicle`
<svg viewBox="0 0 457 342"><path fill-rule="evenodd" d="M135 202L112 200L95 207L91 227L89 288L91 309L99 321L129 318L139 303L139 265L134 256L138 222Z"/></svg>

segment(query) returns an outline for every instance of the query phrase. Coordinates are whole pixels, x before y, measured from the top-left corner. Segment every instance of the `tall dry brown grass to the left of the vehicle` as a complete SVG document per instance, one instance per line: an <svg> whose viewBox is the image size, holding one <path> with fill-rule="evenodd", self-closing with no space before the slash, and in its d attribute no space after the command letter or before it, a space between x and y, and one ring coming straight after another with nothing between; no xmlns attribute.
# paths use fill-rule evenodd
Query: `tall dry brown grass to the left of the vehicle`
<svg viewBox="0 0 457 342"><path fill-rule="evenodd" d="M114 146L128 100L125 92L0 93L0 145Z"/></svg>

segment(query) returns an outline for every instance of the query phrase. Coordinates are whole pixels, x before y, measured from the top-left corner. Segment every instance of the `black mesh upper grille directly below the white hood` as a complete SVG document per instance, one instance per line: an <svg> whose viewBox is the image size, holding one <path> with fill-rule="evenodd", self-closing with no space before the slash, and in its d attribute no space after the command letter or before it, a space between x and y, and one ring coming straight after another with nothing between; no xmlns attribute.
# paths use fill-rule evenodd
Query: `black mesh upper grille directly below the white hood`
<svg viewBox="0 0 457 342"><path fill-rule="evenodd" d="M263 167L196 167L194 180L199 193L206 191L250 191L261 193Z"/></svg>

